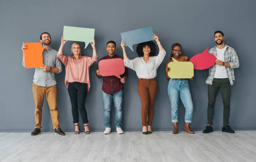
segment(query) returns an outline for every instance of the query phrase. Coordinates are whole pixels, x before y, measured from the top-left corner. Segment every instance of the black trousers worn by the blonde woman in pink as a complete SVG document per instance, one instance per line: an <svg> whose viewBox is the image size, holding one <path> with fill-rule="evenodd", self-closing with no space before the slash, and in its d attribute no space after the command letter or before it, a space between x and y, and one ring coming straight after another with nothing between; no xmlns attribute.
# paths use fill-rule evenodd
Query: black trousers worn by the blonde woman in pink
<svg viewBox="0 0 256 162"><path fill-rule="evenodd" d="M68 92L72 106L73 123L78 123L78 109L80 111L83 123L88 123L85 100L87 96L87 84L80 82L69 83Z"/></svg>

